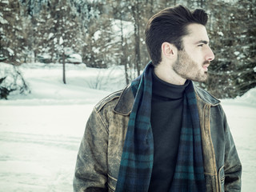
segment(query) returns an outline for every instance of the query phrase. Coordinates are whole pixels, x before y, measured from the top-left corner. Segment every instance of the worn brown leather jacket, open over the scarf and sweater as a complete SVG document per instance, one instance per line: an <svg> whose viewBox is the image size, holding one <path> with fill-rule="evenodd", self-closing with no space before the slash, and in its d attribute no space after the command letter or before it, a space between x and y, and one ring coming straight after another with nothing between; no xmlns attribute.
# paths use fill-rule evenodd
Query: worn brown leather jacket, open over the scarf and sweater
<svg viewBox="0 0 256 192"><path fill-rule="evenodd" d="M241 191L242 165L218 99L194 86L207 191ZM78 151L74 191L114 191L134 103L127 86L94 107Z"/></svg>

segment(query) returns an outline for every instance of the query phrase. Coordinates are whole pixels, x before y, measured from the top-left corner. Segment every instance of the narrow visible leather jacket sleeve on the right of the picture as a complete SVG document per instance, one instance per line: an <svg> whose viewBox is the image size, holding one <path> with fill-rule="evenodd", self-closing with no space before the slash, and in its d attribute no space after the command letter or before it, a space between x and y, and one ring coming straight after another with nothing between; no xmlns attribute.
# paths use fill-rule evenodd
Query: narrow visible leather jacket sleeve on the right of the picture
<svg viewBox="0 0 256 192"><path fill-rule="evenodd" d="M234 145L234 140L230 133L230 127L224 114L224 127L225 127L225 191L238 192L241 191L241 175L242 164L238 158L238 152Z"/></svg>

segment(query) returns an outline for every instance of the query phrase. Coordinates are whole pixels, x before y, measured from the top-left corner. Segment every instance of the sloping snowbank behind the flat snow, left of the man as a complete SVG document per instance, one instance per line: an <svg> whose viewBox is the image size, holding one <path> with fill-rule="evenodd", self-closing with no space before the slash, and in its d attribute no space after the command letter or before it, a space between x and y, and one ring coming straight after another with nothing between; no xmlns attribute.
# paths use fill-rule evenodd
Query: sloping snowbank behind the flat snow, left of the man
<svg viewBox="0 0 256 192"><path fill-rule="evenodd" d="M96 69L86 67L85 64L66 64L66 84L62 82L62 64L28 63L17 69L31 94L20 95L14 92L8 97L10 101L0 101L4 105L92 103L126 85L122 66Z"/></svg>

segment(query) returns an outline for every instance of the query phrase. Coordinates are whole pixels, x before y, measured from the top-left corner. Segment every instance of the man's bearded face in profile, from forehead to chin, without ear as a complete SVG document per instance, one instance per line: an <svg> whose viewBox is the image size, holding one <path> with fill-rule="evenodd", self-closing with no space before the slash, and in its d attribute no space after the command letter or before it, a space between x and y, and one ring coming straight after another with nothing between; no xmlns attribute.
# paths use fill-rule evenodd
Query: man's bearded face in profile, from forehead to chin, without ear
<svg viewBox="0 0 256 192"><path fill-rule="evenodd" d="M184 49L178 51L173 70L182 78L204 82L210 61L214 60L206 28L193 23L187 26L187 30L189 34L182 38Z"/></svg>

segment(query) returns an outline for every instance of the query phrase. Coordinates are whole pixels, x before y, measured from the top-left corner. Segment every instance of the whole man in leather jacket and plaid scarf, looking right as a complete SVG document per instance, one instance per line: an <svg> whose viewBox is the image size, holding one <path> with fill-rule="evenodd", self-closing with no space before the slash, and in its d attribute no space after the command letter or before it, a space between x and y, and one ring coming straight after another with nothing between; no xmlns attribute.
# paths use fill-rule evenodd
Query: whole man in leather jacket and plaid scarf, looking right
<svg viewBox="0 0 256 192"><path fill-rule="evenodd" d="M194 86L214 54L204 10L155 14L152 62L99 102L78 152L74 191L240 191L242 166L218 99Z"/></svg>

